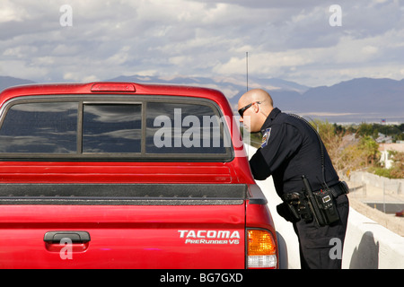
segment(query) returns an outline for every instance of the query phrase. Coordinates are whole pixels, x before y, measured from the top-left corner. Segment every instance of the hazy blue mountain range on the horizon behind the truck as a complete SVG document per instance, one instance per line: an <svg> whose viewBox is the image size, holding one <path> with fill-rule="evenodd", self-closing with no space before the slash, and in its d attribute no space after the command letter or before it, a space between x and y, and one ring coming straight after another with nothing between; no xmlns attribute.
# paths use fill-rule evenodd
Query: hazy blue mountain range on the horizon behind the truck
<svg viewBox="0 0 404 287"><path fill-rule="evenodd" d="M250 77L162 77L162 76L119 76L105 81L133 83L170 83L214 88L223 91L237 109L237 101L247 89L267 90L274 106L303 117L320 118L329 122L361 123L404 122L404 79L356 78L330 86L308 87L277 78ZM0 91L5 88L34 83L9 76L0 76Z"/></svg>

